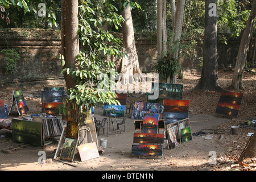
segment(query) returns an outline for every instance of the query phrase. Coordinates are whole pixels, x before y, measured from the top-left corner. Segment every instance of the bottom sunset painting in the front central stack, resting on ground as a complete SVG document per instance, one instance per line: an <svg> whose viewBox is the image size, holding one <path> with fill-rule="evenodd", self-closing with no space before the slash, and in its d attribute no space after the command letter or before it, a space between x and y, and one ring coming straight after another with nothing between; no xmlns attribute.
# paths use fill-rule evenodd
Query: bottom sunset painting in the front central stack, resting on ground
<svg viewBox="0 0 256 182"><path fill-rule="evenodd" d="M163 155L163 145L155 144L133 144L131 146L132 155Z"/></svg>

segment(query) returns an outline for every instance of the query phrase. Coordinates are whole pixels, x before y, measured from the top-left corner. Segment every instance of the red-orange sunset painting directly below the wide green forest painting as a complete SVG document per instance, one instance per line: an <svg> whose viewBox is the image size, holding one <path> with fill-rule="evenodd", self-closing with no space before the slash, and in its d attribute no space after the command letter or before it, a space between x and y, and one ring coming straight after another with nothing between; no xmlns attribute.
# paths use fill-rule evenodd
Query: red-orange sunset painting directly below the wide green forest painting
<svg viewBox="0 0 256 182"><path fill-rule="evenodd" d="M189 100L164 100L164 112L188 113Z"/></svg>

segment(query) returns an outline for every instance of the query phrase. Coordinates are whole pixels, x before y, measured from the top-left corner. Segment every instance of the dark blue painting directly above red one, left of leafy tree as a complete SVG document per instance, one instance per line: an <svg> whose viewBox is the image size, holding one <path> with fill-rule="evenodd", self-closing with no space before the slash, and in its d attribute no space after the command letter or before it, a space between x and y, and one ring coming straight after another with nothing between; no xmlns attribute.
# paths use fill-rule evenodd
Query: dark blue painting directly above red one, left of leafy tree
<svg viewBox="0 0 256 182"><path fill-rule="evenodd" d="M65 91L42 91L42 102L63 102Z"/></svg>

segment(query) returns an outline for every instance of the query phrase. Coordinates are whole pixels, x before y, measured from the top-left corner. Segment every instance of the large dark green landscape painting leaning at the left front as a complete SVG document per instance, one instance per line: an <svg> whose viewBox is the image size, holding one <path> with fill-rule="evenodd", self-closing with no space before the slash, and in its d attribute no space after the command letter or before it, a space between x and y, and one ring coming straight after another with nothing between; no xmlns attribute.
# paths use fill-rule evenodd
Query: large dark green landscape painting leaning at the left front
<svg viewBox="0 0 256 182"><path fill-rule="evenodd" d="M13 140L21 143L43 146L42 123L12 119Z"/></svg>

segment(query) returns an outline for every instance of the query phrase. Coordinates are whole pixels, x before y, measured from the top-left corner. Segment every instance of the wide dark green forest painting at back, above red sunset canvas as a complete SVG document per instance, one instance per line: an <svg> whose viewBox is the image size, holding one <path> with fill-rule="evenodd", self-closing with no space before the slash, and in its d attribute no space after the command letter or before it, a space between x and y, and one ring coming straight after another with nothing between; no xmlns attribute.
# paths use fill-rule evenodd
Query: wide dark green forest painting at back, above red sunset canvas
<svg viewBox="0 0 256 182"><path fill-rule="evenodd" d="M158 85L158 86L157 86ZM183 85L180 84L166 84L152 83L152 92L158 92L158 100L182 100L183 98Z"/></svg>

